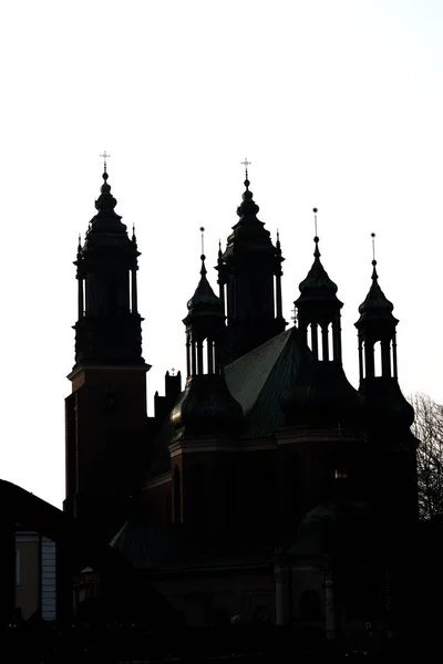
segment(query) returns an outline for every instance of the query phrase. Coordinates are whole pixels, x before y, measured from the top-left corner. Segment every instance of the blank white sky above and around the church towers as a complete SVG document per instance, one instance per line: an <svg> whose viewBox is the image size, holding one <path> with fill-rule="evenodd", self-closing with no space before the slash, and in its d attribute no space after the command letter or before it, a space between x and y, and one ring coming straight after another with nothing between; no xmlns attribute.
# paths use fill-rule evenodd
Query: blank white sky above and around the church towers
<svg viewBox="0 0 443 664"><path fill-rule="evenodd" d="M358 382L370 232L394 304L403 392L443 402L443 3L431 0L7 2L0 11L0 476L61 506L78 234L106 149L136 225L150 403L184 365L186 301L236 222L247 156L284 249L284 305L312 262L344 302ZM215 271L208 277L216 287Z"/></svg>

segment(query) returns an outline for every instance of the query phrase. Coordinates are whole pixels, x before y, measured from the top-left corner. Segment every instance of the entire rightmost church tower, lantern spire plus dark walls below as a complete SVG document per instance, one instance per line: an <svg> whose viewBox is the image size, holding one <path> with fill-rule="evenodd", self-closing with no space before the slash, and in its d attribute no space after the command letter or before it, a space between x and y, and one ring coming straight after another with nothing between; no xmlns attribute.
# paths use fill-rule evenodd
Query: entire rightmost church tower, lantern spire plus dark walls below
<svg viewBox="0 0 443 664"><path fill-rule="evenodd" d="M372 245L374 246L374 234ZM393 304L380 288L373 248L372 283L359 307L360 393L368 404L367 491L384 519L404 526L416 516L416 446L411 432L414 411L398 378ZM362 477L363 484L364 478ZM372 489L372 490L371 490Z"/></svg>

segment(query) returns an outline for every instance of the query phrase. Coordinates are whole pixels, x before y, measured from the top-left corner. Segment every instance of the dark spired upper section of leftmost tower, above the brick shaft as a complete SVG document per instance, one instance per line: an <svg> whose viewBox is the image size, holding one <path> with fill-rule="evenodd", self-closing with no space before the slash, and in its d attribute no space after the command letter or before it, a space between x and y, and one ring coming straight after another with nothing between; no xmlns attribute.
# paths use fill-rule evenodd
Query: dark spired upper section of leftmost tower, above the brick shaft
<svg viewBox="0 0 443 664"><path fill-rule="evenodd" d="M75 323L75 361L92 364L143 364L137 310L137 250L122 217L115 212L106 164L97 214L91 219L75 266L79 282L79 320Z"/></svg>

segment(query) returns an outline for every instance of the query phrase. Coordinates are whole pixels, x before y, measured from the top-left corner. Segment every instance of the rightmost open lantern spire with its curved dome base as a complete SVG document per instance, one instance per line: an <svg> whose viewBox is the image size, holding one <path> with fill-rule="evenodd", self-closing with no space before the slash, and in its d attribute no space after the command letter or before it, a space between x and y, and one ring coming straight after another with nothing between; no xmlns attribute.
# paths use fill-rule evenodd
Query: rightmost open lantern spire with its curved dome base
<svg viewBox="0 0 443 664"><path fill-rule="evenodd" d="M401 422L408 427L413 422L413 408L406 402L398 384L396 325L393 304L379 284L372 238L372 283L359 307L356 323L359 335L360 392L364 394L373 414L388 423Z"/></svg>

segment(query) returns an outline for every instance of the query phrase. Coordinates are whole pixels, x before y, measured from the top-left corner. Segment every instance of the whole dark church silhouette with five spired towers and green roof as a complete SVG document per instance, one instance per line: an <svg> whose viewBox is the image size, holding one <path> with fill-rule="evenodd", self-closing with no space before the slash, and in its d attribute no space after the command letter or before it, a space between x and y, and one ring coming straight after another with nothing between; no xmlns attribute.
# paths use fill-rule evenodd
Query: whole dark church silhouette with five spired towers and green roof
<svg viewBox="0 0 443 664"><path fill-rule="evenodd" d="M219 248L218 295L200 257L183 321L184 386L167 372L148 417L140 252L107 179L105 167L75 261L64 510L145 569L188 624L238 616L362 640L393 630L399 547L416 521L418 440L375 261L356 323L356 390L319 238L288 326L280 242L258 219L246 175Z"/></svg>

